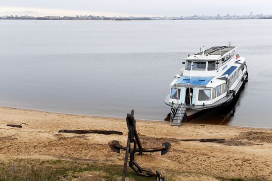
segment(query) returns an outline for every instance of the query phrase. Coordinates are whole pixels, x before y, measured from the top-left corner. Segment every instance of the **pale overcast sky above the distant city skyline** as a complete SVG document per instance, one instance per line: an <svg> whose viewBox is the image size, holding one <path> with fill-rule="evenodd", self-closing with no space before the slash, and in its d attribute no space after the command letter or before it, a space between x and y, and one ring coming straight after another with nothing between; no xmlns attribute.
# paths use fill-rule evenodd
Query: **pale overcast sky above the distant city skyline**
<svg viewBox="0 0 272 181"><path fill-rule="evenodd" d="M0 16L272 14L272 0L0 0Z"/></svg>

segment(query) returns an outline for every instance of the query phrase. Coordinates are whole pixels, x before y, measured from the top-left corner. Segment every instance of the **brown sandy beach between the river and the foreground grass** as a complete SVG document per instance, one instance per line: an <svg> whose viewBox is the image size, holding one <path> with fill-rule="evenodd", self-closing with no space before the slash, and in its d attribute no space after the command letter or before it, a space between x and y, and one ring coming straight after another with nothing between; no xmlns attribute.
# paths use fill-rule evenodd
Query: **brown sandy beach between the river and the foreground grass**
<svg viewBox="0 0 272 181"><path fill-rule="evenodd" d="M129 110L128 110L129 112ZM204 124L182 124L137 120L137 132L143 145L153 147L170 142L170 151L147 153L136 157L143 167L161 170L174 181L218 181L217 178L263 178L272 181L272 143L246 139L241 134L261 132L271 138L272 129L230 127ZM20 124L23 128L7 127ZM123 135L58 133L60 129L115 130ZM247 145L182 142L177 139L223 138ZM127 142L127 124L122 118L72 115L36 110L0 107L0 159L68 159L122 165L125 151L111 151L108 142ZM129 170L130 168L128 168ZM175 174L173 174L175 173Z"/></svg>

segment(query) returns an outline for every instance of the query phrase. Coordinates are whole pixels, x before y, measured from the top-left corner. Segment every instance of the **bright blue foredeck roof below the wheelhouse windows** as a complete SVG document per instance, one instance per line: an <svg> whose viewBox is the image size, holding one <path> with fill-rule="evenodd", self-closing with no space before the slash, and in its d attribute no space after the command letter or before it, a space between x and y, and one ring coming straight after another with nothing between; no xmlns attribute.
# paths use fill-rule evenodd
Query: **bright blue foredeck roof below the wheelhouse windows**
<svg viewBox="0 0 272 181"><path fill-rule="evenodd" d="M214 76L181 76L175 84L207 85Z"/></svg>

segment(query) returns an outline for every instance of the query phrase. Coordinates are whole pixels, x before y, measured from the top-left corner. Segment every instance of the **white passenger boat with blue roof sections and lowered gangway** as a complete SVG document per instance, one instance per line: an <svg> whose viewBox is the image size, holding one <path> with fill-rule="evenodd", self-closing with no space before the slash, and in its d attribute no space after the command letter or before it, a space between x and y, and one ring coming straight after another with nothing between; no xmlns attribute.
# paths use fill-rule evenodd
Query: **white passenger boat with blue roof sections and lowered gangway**
<svg viewBox="0 0 272 181"><path fill-rule="evenodd" d="M170 84L165 103L171 106L171 125L180 126L202 110L230 103L248 78L246 60L235 46L214 46L188 55L185 67Z"/></svg>

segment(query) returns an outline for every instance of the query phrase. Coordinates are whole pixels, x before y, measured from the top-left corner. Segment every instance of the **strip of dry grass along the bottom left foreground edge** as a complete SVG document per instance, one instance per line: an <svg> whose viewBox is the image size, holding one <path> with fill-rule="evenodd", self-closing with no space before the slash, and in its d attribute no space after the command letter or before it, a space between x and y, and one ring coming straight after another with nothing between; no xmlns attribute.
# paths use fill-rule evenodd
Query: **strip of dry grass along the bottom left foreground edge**
<svg viewBox="0 0 272 181"><path fill-rule="evenodd" d="M0 181L120 181L123 166L70 160L0 161ZM128 181L155 181L127 172Z"/></svg>

